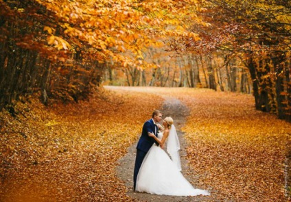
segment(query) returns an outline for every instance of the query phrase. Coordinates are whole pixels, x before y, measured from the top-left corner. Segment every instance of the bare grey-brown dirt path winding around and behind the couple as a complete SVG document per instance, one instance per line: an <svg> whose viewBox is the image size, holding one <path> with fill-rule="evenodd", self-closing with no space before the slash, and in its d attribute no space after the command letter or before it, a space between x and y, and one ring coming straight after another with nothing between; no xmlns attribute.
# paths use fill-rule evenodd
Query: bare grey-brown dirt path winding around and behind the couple
<svg viewBox="0 0 291 202"><path fill-rule="evenodd" d="M174 125L177 129L177 134L181 144L181 164L182 164L182 173L190 181L192 185L196 185L194 181L187 176L187 160L186 160L186 151L187 147L185 139L183 138L183 132L180 131L181 127L185 124L185 118L189 115L189 109L181 103L178 99L171 97L165 97L165 102L163 103L163 118L166 116L171 116L174 119ZM141 126L142 127L142 126ZM128 195L133 199L138 201L202 201L203 197L172 197L172 196L161 196L156 194L147 194L140 192L133 192L132 190L132 175L133 168L135 166L135 155L137 142L132 144L128 149L127 155L125 155L121 160L119 160L119 166L117 167L117 176L124 181L126 187L128 188Z"/></svg>

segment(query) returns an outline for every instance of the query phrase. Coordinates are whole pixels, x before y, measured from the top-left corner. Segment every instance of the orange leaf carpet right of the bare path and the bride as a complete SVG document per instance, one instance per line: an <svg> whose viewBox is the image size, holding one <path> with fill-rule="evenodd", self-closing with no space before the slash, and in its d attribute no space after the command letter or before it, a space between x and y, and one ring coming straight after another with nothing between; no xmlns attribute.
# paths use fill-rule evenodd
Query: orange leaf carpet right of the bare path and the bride
<svg viewBox="0 0 291 202"><path fill-rule="evenodd" d="M187 174L191 179L198 176L194 186L212 191L205 201L288 200L283 173L290 167L286 152L291 125L256 111L251 95L189 88L125 89L172 96L187 105L189 116L182 127L190 166ZM179 110L172 108L170 115L175 112ZM142 194L129 194L143 199ZM159 201L150 198L155 199Z"/></svg>

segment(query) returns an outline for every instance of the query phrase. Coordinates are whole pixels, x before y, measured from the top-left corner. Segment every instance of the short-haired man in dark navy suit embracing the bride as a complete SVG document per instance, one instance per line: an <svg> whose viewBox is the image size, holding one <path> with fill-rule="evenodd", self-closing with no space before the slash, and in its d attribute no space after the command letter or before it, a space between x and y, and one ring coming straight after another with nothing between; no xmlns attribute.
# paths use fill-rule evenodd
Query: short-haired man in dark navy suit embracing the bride
<svg viewBox="0 0 291 202"><path fill-rule="evenodd" d="M137 142L137 157L135 159L135 171L133 174L133 190L135 190L135 186L137 184L137 174L139 173L139 168L141 168L143 158L150 150L150 147L152 147L152 144L156 143L156 145L159 146L159 143L156 142L154 138L148 136L148 132L157 136L158 127L156 124L159 123L161 119L162 113L159 110L154 110L154 112L152 112L152 118L143 124L141 138L139 138L139 142Z"/></svg>

